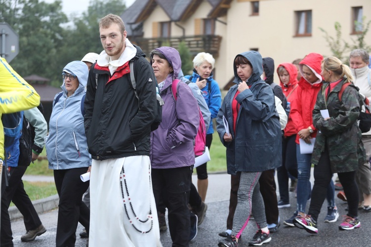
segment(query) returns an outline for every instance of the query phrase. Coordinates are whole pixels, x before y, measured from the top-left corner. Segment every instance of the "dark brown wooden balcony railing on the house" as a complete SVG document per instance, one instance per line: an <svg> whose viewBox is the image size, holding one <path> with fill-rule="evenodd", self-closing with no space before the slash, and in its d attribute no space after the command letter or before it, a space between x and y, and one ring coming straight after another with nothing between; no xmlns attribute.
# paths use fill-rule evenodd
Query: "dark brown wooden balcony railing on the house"
<svg viewBox="0 0 371 247"><path fill-rule="evenodd" d="M137 38L129 37L131 41L138 44L146 55L157 47L163 45L170 45L176 49L179 48L181 41L185 42L190 53L194 56L199 52L208 52L215 58L219 56L219 47L222 40L221 36L217 35L195 35L183 37L169 37L169 38Z"/></svg>

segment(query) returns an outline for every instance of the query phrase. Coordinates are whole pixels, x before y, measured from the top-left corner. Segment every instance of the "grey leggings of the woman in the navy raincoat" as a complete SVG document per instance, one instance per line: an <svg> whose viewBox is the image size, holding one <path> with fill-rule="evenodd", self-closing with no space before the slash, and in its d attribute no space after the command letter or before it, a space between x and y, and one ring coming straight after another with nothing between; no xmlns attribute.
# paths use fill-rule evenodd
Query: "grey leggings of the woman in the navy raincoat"
<svg viewBox="0 0 371 247"><path fill-rule="evenodd" d="M232 234L236 238L239 238L247 226L251 211L259 229L267 226L264 201L259 189L261 174L262 172L241 172L232 229Z"/></svg>

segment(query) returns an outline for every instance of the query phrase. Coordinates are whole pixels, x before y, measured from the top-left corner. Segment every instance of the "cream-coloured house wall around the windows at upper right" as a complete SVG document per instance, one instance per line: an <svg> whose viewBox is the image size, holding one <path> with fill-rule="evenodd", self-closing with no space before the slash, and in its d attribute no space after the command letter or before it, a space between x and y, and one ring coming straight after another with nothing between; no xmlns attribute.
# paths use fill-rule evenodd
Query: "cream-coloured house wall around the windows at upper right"
<svg viewBox="0 0 371 247"><path fill-rule="evenodd" d="M340 22L342 38L351 42L351 38L356 38L355 35L350 35L351 7L355 6L363 6L363 14L366 16L371 13L371 0L264 0L260 1L259 15L250 16L250 2L233 0L227 15L227 32L223 37L227 42L227 52L225 57L219 58L227 62L224 72L219 68L225 78L219 80L229 81L233 77L231 65L235 55L251 48L259 48L263 57L272 57L276 68L280 63L303 58L310 52L331 55L324 33L319 28L325 29L334 37L334 23ZM300 10L312 10L311 37L294 37L294 11ZM367 20L371 20L370 14ZM368 33L366 42L371 44L371 32ZM278 82L276 75L275 81ZM220 83L221 87L224 84Z"/></svg>

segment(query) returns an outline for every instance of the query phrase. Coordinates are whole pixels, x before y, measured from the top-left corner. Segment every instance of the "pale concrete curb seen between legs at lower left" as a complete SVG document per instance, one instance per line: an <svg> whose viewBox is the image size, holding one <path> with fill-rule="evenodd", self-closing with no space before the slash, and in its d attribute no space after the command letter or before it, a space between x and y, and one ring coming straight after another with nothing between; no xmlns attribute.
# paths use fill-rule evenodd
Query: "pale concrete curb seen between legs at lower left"
<svg viewBox="0 0 371 247"><path fill-rule="evenodd" d="M43 213L51 209L54 209L58 207L58 203L59 203L58 194L32 202L37 213ZM23 217L23 215L16 206L9 207L8 212L10 220L15 220Z"/></svg>

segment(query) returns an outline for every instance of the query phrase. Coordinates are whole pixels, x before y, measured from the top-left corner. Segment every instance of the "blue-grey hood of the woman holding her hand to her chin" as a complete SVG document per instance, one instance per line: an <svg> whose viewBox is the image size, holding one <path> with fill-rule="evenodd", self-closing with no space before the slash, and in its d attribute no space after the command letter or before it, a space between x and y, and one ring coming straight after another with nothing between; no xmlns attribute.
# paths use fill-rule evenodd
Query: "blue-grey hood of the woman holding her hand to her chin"
<svg viewBox="0 0 371 247"><path fill-rule="evenodd" d="M262 55L260 55L259 52L251 50L251 51L246 51L238 54L237 56L244 56L252 65L252 74L249 79L247 79L247 84L251 85L254 82L257 82L260 79L260 76L263 74L263 59ZM239 82L242 82L242 80L238 77L237 74L237 68L234 60L236 57L233 59L233 71L234 71L234 80L233 82L236 84L239 84Z"/></svg>

